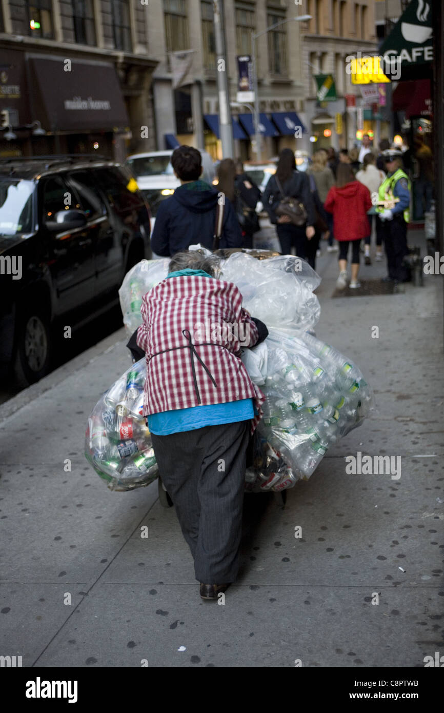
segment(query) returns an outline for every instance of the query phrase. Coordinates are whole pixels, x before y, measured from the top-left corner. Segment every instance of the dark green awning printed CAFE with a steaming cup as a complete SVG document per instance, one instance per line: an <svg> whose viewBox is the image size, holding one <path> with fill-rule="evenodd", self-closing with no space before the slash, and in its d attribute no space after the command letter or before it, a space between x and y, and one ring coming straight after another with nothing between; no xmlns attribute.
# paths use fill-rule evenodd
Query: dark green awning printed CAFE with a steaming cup
<svg viewBox="0 0 444 713"><path fill-rule="evenodd" d="M393 80L408 80L430 76L430 63L433 62L433 27L432 2L440 0L411 0L406 10L383 41L379 53L384 58L399 57L401 77L396 76L396 63L393 69L387 61L381 62L383 73Z"/></svg>

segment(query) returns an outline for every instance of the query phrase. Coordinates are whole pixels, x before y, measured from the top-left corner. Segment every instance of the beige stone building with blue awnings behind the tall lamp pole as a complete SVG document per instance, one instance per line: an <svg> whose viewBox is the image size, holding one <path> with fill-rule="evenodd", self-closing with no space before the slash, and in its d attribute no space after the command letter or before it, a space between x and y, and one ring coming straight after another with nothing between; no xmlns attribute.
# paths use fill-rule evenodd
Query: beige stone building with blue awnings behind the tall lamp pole
<svg viewBox="0 0 444 713"><path fill-rule="evenodd" d="M237 56L251 56L256 40L259 111L264 125L263 156L296 148L304 95L301 71L301 8L294 0L224 0L229 98L237 96ZM211 0L150 0L148 41L159 65L153 74L158 147L168 135L180 143L206 148L222 158L218 135L215 31ZM267 31L267 28L282 23ZM190 51L187 83L173 88L172 52ZM279 116L277 116L279 115ZM277 123L274 122L277 119ZM254 158L252 108L232 108L234 155Z"/></svg>

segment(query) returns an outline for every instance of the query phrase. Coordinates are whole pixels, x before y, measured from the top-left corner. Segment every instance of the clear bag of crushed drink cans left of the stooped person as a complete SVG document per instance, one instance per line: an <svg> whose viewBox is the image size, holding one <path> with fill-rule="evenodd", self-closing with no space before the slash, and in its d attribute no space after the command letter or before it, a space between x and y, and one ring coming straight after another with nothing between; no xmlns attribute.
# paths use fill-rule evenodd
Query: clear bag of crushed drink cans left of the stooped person
<svg viewBox="0 0 444 713"><path fill-rule="evenodd" d="M145 359L125 371L88 418L85 455L112 491L148 486L158 477L150 431L142 416Z"/></svg>

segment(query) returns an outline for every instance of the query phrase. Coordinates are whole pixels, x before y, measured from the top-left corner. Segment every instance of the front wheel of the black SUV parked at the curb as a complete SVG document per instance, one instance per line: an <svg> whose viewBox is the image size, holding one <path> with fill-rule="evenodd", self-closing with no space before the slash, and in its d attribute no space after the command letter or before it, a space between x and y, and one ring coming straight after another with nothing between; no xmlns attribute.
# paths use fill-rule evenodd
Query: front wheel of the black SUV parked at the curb
<svg viewBox="0 0 444 713"><path fill-rule="evenodd" d="M51 329L41 307L26 307L18 316L14 375L19 386L29 386L48 373Z"/></svg>

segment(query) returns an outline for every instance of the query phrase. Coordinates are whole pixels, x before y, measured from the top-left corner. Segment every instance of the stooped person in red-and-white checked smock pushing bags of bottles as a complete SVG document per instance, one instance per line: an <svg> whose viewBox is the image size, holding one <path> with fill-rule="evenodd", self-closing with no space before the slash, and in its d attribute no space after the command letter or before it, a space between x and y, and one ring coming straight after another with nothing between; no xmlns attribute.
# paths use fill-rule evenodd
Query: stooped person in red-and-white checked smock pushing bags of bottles
<svg viewBox="0 0 444 713"><path fill-rule="evenodd" d="M217 265L197 251L175 255L143 297L137 334L147 359L143 414L203 599L237 578L247 446L265 400L240 349L268 334L239 289L215 277Z"/></svg>

